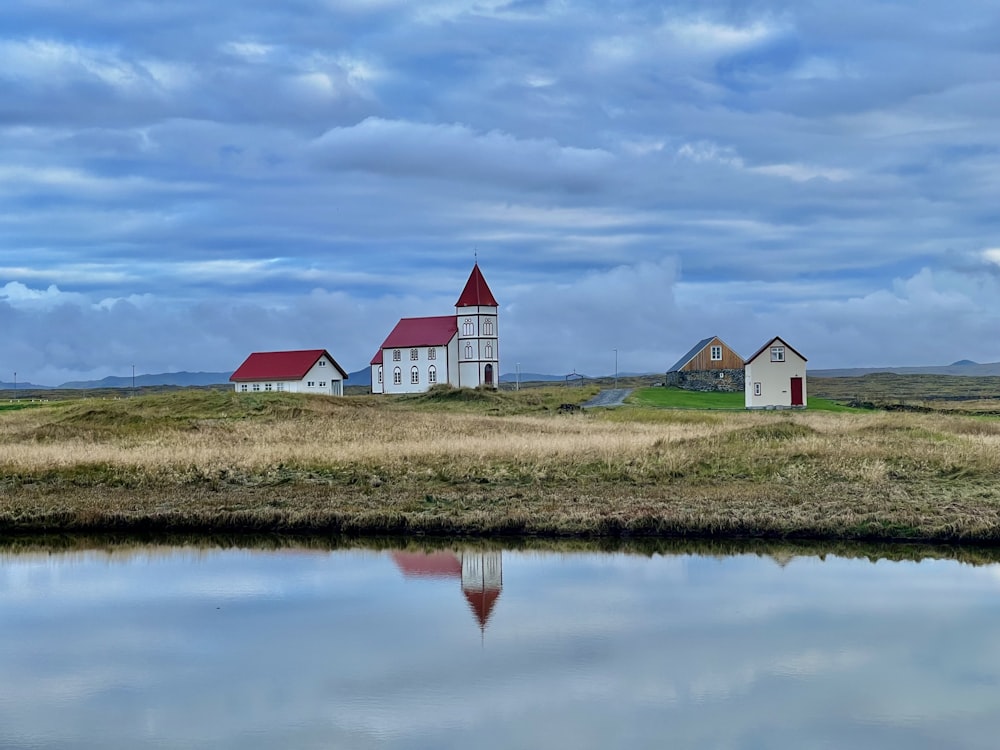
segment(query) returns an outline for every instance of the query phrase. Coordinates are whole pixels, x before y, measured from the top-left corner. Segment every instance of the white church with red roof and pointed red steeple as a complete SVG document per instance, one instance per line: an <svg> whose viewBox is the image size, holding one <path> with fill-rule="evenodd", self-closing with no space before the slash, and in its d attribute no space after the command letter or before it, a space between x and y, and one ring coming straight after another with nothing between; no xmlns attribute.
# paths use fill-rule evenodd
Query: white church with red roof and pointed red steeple
<svg viewBox="0 0 1000 750"><path fill-rule="evenodd" d="M438 383L497 388L497 307L477 262L454 315L396 324L372 357L372 393L422 393Z"/></svg>

